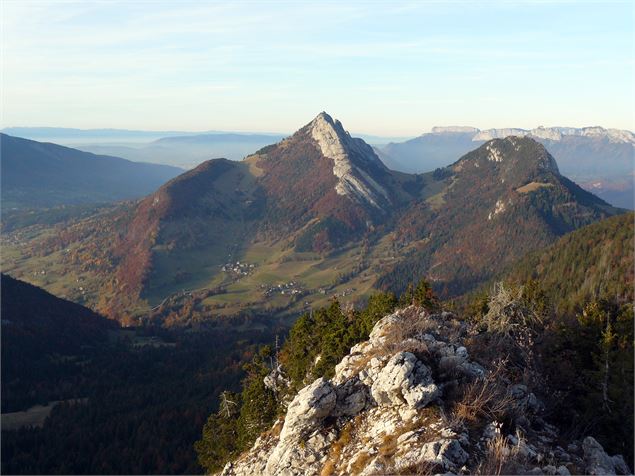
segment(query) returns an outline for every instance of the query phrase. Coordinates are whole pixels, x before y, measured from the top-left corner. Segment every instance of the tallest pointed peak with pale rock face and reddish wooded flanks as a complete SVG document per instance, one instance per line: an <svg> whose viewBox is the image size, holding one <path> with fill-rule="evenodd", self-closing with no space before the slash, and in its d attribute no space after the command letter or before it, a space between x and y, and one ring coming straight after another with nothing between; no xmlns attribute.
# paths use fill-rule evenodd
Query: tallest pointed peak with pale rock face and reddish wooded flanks
<svg viewBox="0 0 635 476"><path fill-rule="evenodd" d="M243 162L267 197L267 235L302 230L302 249L324 249L316 239L342 244L384 223L412 199L372 147L351 137L325 112Z"/></svg>

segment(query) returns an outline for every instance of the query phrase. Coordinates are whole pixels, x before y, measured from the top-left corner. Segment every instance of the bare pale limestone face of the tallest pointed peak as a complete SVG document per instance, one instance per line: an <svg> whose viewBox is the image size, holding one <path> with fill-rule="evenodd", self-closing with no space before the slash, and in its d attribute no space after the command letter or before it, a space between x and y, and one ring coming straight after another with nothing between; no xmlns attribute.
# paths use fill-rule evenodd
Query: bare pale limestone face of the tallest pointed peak
<svg viewBox="0 0 635 476"><path fill-rule="evenodd" d="M351 137L342 123L326 112L318 114L308 127L322 155L333 161L339 195L377 209L390 204L389 193L381 184L387 169L370 145Z"/></svg>

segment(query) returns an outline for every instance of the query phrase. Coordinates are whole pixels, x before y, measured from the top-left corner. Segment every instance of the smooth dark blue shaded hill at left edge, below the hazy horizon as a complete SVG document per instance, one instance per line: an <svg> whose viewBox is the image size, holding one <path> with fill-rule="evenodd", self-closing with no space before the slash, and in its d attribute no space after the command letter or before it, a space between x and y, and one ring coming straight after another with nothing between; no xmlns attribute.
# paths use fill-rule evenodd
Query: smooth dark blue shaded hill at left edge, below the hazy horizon
<svg viewBox="0 0 635 476"><path fill-rule="evenodd" d="M138 198L183 172L7 134L0 155L5 210Z"/></svg>

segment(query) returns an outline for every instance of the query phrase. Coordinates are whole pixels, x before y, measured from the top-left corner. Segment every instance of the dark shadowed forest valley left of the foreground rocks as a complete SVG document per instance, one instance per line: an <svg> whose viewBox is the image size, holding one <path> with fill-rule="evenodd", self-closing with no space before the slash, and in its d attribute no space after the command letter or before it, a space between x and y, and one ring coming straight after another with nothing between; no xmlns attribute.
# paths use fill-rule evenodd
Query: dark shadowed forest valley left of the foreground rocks
<svg viewBox="0 0 635 476"><path fill-rule="evenodd" d="M200 473L219 393L284 329L122 328L2 274L2 473Z"/></svg>

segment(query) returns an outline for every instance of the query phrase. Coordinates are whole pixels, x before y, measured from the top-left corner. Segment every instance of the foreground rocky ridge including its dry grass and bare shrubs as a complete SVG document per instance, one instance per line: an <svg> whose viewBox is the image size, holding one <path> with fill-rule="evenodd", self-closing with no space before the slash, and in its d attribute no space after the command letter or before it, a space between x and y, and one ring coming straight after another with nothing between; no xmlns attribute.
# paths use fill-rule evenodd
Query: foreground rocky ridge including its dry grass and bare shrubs
<svg viewBox="0 0 635 476"><path fill-rule="evenodd" d="M522 329L530 341L524 346L538 348L531 339L540 335L533 321L540 311L517 297L505 304L522 308L524 322L509 308L495 308L494 300L491 314L511 320L502 326ZM209 441L213 430L231 428L233 416L229 410L213 414L199 458L229 460L223 476L630 474L624 456L610 456L588 433L574 439L566 426L563 431L552 423L549 389L536 379L538 357L524 351L522 337L483 327L415 305L394 310L374 324L368 340L333 362L330 374L318 378L309 367L297 392L288 369L271 369L261 394L276 399L290 393L278 417L254 421L264 420L264 431L223 461L218 448L225 441ZM501 359L501 352L511 355Z"/></svg>

